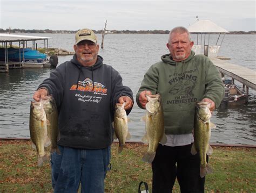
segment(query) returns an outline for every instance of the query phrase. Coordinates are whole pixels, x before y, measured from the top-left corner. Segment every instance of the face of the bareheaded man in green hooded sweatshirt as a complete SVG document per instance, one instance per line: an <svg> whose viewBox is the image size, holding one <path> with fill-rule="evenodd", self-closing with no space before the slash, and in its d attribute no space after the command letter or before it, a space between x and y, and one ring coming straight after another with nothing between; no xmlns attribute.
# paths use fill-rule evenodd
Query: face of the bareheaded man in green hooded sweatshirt
<svg viewBox="0 0 256 193"><path fill-rule="evenodd" d="M176 32L171 34L171 40L166 44L171 53L172 59L177 62L188 58L193 45L194 42L188 39L187 33L180 34Z"/></svg>

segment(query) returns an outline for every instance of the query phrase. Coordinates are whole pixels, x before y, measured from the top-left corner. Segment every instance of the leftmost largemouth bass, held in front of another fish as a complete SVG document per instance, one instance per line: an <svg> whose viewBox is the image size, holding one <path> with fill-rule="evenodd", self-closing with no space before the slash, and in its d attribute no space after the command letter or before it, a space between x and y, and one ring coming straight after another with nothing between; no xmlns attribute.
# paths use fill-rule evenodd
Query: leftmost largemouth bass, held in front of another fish
<svg viewBox="0 0 256 193"><path fill-rule="evenodd" d="M37 149L38 166L42 166L45 160L49 160L44 151L44 146L49 145L49 138L47 136L47 120L42 99L39 102L31 102L29 119L30 138Z"/></svg>

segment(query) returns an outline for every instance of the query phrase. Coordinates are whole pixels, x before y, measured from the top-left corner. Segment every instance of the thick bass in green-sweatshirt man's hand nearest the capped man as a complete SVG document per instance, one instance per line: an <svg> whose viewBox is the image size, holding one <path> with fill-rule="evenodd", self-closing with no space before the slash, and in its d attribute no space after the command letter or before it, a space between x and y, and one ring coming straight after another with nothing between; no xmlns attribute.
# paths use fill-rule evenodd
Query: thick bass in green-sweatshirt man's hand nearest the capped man
<svg viewBox="0 0 256 193"><path fill-rule="evenodd" d="M146 95L148 102L146 103L146 134L142 141L149 144L147 153L143 156L143 161L151 163L156 156L159 142L165 144L167 139L164 134L164 112L161 105L161 97L157 95Z"/></svg>

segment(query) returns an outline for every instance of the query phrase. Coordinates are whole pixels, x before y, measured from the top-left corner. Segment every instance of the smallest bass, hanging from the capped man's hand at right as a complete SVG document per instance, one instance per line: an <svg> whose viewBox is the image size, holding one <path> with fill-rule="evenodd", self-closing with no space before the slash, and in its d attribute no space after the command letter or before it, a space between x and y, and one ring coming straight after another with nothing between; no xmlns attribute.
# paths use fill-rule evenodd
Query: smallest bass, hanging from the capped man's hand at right
<svg viewBox="0 0 256 193"><path fill-rule="evenodd" d="M125 103L122 105L116 104L114 111L114 139L118 139L118 153L123 151L125 140L130 139L131 135L128 131L128 118L124 109Z"/></svg>

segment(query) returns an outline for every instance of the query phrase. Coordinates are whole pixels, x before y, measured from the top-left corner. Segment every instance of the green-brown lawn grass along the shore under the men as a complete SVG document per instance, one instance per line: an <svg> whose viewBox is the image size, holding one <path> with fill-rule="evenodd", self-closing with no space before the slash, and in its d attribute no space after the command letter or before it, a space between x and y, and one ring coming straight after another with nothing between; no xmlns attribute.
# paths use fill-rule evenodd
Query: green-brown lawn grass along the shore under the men
<svg viewBox="0 0 256 193"><path fill-rule="evenodd" d="M147 146L129 143L121 154L114 143L112 169L105 178L105 192L138 192L140 181L152 187L151 165L141 159ZM256 148L213 147L205 192L256 192ZM0 140L0 191L51 192L50 163L37 167L37 155L30 141ZM176 182L173 192L179 192Z"/></svg>

